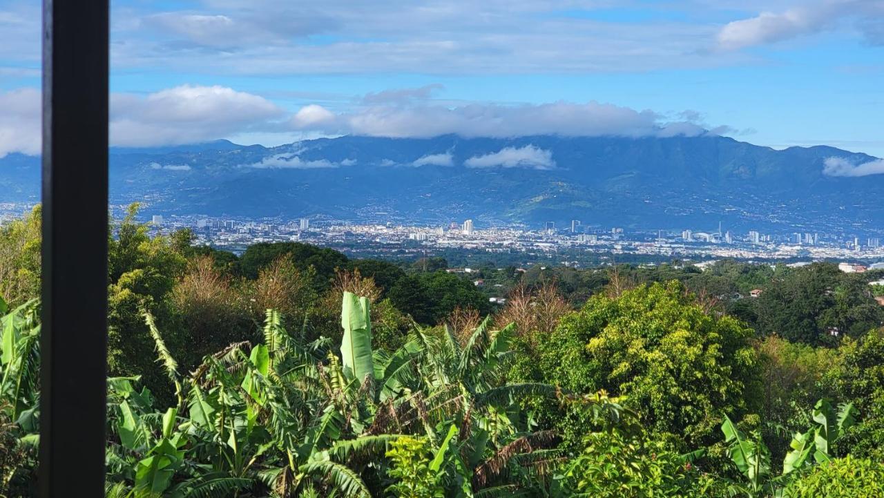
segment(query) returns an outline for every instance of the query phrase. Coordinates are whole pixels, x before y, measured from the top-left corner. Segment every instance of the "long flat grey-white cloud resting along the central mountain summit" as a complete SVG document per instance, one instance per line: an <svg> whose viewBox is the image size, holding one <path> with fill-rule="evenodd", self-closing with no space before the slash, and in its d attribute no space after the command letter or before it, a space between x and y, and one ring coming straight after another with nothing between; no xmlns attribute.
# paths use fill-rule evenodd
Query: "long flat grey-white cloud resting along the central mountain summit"
<svg viewBox="0 0 884 498"><path fill-rule="evenodd" d="M703 126L689 121L667 122L653 111L636 111L595 101L525 105L470 103L458 107L373 105L339 114L332 114L315 104L308 107L309 111L305 107L298 114L304 112L322 116L322 119L316 120L315 126L325 132L397 138L440 134L512 137L534 134L694 136L706 133ZM296 122L295 129L313 127L306 124L307 120L293 121Z"/></svg>

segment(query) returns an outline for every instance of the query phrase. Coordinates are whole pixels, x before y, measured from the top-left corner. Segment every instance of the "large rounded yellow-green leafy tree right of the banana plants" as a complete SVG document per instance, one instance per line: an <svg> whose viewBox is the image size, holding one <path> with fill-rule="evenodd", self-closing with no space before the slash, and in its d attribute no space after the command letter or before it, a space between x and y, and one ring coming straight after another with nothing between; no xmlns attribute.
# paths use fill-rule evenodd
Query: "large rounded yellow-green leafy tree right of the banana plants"
<svg viewBox="0 0 884 498"><path fill-rule="evenodd" d="M652 433L679 434L696 448L713 441L721 414L760 408L752 335L705 311L682 284L655 283L593 296L541 342L537 365L565 389L625 396Z"/></svg>

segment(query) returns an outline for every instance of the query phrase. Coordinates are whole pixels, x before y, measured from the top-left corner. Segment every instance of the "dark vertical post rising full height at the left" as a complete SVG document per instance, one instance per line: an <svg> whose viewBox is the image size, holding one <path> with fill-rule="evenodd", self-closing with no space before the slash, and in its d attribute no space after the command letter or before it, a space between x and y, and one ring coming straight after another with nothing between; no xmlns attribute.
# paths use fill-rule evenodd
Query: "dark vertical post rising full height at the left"
<svg viewBox="0 0 884 498"><path fill-rule="evenodd" d="M43 0L40 496L104 495L108 0Z"/></svg>

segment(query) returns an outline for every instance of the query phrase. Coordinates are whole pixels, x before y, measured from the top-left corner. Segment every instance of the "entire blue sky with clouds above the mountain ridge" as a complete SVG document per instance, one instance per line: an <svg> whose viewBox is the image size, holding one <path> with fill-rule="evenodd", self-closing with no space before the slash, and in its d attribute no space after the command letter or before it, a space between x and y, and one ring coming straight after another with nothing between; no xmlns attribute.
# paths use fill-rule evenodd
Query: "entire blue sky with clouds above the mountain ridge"
<svg viewBox="0 0 884 498"><path fill-rule="evenodd" d="M884 157L884 0L111 1L111 142L699 134ZM0 0L0 157L39 150Z"/></svg>

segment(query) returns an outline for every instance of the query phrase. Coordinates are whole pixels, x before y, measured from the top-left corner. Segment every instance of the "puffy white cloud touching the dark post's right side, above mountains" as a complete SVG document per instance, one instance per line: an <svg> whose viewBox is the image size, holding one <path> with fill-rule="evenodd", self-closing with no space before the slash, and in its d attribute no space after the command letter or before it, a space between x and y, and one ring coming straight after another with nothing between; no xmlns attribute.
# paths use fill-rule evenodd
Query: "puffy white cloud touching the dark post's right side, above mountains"
<svg viewBox="0 0 884 498"><path fill-rule="evenodd" d="M226 87L183 85L149 94L110 96L110 143L147 147L216 140L268 128L285 111Z"/></svg>

